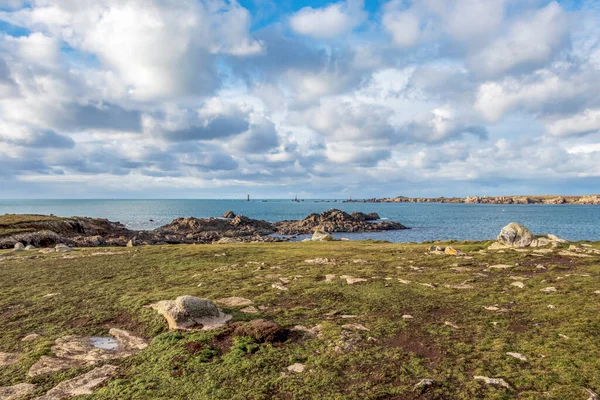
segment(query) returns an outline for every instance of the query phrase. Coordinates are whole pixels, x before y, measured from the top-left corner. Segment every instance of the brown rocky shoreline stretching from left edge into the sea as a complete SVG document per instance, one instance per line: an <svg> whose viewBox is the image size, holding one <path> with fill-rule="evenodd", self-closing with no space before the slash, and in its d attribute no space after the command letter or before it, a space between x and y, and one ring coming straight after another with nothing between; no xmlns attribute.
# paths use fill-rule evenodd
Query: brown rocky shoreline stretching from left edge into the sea
<svg viewBox="0 0 600 400"><path fill-rule="evenodd" d="M229 211L222 218L177 218L154 230L130 230L102 218L61 218L44 215L0 216L0 249L25 247L136 246L161 244L209 244L235 242L283 242L289 236L319 235L331 240L332 232L376 232L408 229L398 222L381 221L376 213L352 213L331 209L303 220L271 223ZM274 236L275 235L275 236ZM279 236L277 236L279 235ZM317 239L318 238L318 239Z"/></svg>

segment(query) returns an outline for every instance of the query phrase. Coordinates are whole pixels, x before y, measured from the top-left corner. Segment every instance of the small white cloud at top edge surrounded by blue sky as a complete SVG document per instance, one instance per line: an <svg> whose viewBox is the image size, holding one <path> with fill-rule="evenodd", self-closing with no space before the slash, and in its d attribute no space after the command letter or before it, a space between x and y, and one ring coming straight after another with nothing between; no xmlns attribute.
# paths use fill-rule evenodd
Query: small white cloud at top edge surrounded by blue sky
<svg viewBox="0 0 600 400"><path fill-rule="evenodd" d="M365 19L363 0L346 0L323 8L304 7L290 18L297 33L332 39L352 31Z"/></svg>

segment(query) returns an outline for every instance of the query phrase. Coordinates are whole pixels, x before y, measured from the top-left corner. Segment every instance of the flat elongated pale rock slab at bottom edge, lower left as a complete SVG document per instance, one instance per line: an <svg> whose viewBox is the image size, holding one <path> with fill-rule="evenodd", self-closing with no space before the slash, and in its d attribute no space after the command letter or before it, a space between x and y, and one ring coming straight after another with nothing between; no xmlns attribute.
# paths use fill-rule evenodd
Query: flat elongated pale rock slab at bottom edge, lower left
<svg viewBox="0 0 600 400"><path fill-rule="evenodd" d="M73 379L61 382L38 400L62 400L94 393L94 389L117 374L117 367L104 365Z"/></svg>

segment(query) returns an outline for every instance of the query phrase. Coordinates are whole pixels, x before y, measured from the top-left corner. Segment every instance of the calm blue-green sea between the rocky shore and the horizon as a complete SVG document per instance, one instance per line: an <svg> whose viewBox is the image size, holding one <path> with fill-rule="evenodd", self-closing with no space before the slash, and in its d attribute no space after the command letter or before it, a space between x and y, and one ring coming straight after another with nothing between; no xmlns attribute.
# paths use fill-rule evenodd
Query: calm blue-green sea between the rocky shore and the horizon
<svg viewBox="0 0 600 400"><path fill-rule="evenodd" d="M120 221L131 229L153 229L177 217L220 217L225 211L267 221L302 219L330 208L347 212L377 212L410 230L343 233L350 239L392 242L484 240L495 238L509 222L520 222L534 233L554 233L570 240L600 240L600 206L481 205L427 203L342 203L304 200L0 200L0 214L55 214ZM152 221L151 221L152 220Z"/></svg>

